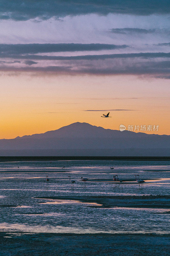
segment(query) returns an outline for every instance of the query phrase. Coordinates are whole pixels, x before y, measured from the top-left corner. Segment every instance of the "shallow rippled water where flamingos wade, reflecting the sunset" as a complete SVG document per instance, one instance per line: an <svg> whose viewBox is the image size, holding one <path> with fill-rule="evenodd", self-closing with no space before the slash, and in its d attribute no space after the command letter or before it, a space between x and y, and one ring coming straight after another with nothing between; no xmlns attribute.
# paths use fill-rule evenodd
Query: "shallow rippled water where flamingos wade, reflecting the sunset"
<svg viewBox="0 0 170 256"><path fill-rule="evenodd" d="M62 167L65 168L62 170ZM19 168L18 168L19 167ZM110 167L114 167L110 170ZM52 233L169 233L168 199L157 199L150 208L97 208L100 202L81 202L92 196L168 195L170 162L167 161L21 161L0 163L0 231ZM145 180L115 186L108 181L89 179ZM46 175L50 181L46 184ZM68 176L75 180L72 188ZM156 180L149 180L155 178ZM65 200L37 197L62 196ZM68 200L69 197L79 200ZM148 201L148 200L146 200ZM137 205L141 200L136 200ZM162 205L162 208L161 208ZM6 207L5 207L6 206ZM95 206L95 207L94 207ZM163 212L165 212L163 214Z"/></svg>

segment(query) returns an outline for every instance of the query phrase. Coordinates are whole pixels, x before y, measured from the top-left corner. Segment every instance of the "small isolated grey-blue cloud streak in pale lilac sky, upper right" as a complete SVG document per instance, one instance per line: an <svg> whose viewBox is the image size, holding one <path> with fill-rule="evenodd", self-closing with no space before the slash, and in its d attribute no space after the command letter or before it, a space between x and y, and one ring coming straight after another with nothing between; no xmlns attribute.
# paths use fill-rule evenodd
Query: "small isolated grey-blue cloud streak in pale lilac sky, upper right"
<svg viewBox="0 0 170 256"><path fill-rule="evenodd" d="M155 33L156 29L143 29L143 28L112 28L110 32L116 34L132 34L132 33L139 33L139 34L151 34Z"/></svg>

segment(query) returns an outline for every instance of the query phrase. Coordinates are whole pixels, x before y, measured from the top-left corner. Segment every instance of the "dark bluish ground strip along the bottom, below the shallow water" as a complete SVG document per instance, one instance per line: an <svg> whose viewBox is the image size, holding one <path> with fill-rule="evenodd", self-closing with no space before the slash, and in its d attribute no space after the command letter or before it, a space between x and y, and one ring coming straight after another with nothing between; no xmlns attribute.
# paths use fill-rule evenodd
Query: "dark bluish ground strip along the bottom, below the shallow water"
<svg viewBox="0 0 170 256"><path fill-rule="evenodd" d="M167 256L169 245L168 235L0 233L1 256Z"/></svg>

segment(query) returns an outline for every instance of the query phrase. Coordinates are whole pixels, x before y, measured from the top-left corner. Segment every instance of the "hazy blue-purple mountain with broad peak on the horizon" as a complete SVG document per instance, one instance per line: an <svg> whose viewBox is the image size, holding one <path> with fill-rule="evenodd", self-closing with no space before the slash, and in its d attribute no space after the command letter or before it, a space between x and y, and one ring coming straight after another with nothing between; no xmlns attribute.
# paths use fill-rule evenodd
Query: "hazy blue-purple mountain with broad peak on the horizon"
<svg viewBox="0 0 170 256"><path fill-rule="evenodd" d="M169 153L169 135L120 132L79 122L54 131L0 140L0 155L3 156L11 154L15 156L32 154L169 156Z"/></svg>

